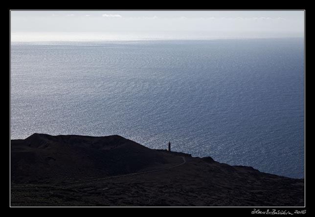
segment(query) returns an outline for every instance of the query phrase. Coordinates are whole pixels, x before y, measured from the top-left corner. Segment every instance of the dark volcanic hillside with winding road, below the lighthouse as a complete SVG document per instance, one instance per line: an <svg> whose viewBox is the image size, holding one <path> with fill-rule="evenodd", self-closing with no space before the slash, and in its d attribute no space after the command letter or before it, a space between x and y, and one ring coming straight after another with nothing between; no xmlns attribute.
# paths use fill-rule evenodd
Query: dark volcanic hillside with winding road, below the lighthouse
<svg viewBox="0 0 315 217"><path fill-rule="evenodd" d="M118 135L11 140L11 206L304 206L304 179Z"/></svg>

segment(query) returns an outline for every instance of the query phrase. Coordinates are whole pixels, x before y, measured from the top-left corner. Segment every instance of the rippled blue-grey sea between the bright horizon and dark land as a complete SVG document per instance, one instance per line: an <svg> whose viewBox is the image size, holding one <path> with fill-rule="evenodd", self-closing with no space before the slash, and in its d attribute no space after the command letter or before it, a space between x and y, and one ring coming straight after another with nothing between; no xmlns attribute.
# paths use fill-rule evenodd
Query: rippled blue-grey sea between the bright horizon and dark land
<svg viewBox="0 0 315 217"><path fill-rule="evenodd" d="M304 178L304 39L11 44L11 139L118 134Z"/></svg>

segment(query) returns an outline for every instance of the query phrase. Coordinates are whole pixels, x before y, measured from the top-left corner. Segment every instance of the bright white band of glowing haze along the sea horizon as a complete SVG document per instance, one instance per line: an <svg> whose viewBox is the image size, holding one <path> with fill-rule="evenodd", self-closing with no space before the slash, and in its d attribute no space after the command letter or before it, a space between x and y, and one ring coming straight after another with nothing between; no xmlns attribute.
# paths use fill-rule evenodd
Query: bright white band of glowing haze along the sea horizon
<svg viewBox="0 0 315 217"><path fill-rule="evenodd" d="M104 41L160 41L160 40L215 40L215 39L268 39L303 37L301 32L249 31L164 31L164 32L12 32L11 42L104 42Z"/></svg>

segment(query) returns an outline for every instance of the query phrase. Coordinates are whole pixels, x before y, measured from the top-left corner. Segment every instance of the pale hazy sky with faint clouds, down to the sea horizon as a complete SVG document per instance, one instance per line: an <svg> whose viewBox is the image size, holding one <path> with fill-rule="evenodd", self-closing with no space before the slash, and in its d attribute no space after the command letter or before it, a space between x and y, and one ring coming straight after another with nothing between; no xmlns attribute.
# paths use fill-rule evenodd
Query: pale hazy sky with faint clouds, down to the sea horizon
<svg viewBox="0 0 315 217"><path fill-rule="evenodd" d="M303 37L304 11L11 11L11 40ZM57 37L57 38L58 38Z"/></svg>

